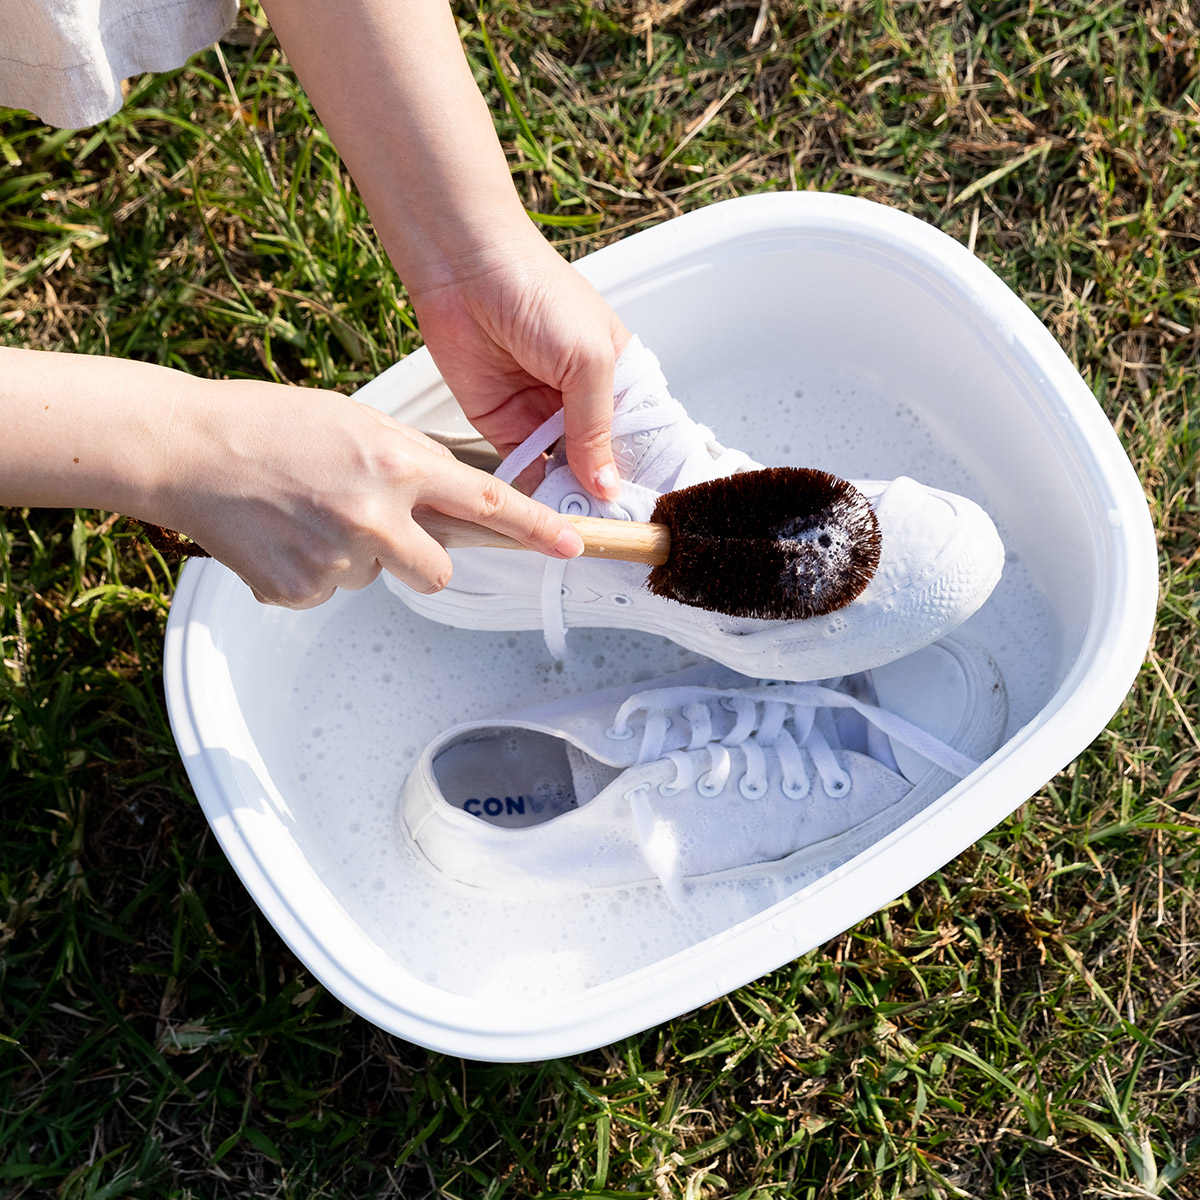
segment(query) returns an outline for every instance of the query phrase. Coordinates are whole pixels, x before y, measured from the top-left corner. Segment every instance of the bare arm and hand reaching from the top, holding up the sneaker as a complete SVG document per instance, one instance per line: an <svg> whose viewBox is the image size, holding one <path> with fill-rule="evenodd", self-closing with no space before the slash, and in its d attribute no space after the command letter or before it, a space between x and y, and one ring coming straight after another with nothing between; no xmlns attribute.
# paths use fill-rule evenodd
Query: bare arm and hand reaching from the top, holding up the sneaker
<svg viewBox="0 0 1200 1200"><path fill-rule="evenodd" d="M576 475L616 497L629 334L526 215L446 0L264 7L467 418L506 454L563 407Z"/></svg>

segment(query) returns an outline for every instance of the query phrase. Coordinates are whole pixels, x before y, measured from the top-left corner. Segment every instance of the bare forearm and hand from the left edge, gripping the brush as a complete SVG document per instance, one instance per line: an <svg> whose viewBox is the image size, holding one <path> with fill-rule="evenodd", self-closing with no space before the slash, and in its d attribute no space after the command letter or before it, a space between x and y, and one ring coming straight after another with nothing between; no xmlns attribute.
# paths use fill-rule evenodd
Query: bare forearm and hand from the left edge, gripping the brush
<svg viewBox="0 0 1200 1200"><path fill-rule="evenodd" d="M566 520L334 392L0 347L0 505L102 508L178 529L259 600L305 608L385 568L421 592L449 556L426 505L574 557ZM562 540L560 540L562 539Z"/></svg>

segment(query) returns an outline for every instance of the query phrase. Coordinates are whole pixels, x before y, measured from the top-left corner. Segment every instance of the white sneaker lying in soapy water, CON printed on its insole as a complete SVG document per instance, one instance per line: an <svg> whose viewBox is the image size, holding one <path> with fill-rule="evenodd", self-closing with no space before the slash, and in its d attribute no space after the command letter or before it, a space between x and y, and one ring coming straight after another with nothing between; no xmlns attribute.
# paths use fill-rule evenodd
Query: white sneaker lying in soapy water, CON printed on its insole
<svg viewBox="0 0 1200 1200"><path fill-rule="evenodd" d="M946 638L823 683L706 664L472 721L403 791L440 872L506 892L786 875L845 862L967 775L1003 737L1003 680Z"/></svg>

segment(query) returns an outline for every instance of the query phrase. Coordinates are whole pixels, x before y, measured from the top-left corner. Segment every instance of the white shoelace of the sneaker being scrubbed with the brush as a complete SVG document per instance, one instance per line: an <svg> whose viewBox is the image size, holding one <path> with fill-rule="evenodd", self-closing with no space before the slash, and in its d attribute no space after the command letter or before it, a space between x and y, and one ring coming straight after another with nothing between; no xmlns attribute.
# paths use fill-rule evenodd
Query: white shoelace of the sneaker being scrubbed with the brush
<svg viewBox="0 0 1200 1200"><path fill-rule="evenodd" d="M496 478L511 484L520 474L545 454L563 436L563 410L548 416L529 434L496 469ZM702 472L689 470L696 449L689 432L698 434L716 450L715 457L704 455ZM655 370L646 372L622 394L613 413L612 436L634 438L637 434L656 433L649 442L641 458L637 474L648 480L670 481L672 487L686 487L720 475L731 475L739 468L751 464L748 455L740 450L718 448L710 430L696 425L688 416L683 404L668 396L665 380ZM592 499L586 491L568 496L562 505L564 512L588 516L592 511ZM622 510L624 511L624 510ZM629 520L629 514L624 514ZM553 658L562 662L566 658L566 616L563 612L564 586L568 559L546 558L541 577L541 628L546 648ZM620 602L619 600L617 602ZM628 598L625 598L628 604Z"/></svg>

